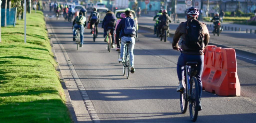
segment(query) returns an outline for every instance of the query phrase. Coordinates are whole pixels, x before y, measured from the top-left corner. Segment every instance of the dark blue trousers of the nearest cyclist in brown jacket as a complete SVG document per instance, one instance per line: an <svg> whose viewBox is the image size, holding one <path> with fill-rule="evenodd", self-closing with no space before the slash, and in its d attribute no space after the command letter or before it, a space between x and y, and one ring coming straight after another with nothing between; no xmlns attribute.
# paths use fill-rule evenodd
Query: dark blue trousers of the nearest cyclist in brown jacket
<svg viewBox="0 0 256 123"><path fill-rule="evenodd" d="M177 74L178 74L179 81L184 79L184 66L186 66L186 63L188 61L198 62L198 65L196 66L197 74L195 77L197 78L198 86L199 86L199 98L201 98L202 97L201 76L204 68L204 55L189 55L184 53L180 54L180 57L177 63Z"/></svg>

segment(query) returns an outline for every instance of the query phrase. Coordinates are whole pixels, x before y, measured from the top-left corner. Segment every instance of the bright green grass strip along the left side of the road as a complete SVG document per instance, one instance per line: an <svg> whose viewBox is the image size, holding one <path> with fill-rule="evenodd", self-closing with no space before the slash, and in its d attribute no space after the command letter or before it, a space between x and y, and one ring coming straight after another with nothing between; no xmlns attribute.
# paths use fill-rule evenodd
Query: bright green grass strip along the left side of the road
<svg viewBox="0 0 256 123"><path fill-rule="evenodd" d="M43 13L27 14L27 44L24 21L1 31L0 122L70 123Z"/></svg>

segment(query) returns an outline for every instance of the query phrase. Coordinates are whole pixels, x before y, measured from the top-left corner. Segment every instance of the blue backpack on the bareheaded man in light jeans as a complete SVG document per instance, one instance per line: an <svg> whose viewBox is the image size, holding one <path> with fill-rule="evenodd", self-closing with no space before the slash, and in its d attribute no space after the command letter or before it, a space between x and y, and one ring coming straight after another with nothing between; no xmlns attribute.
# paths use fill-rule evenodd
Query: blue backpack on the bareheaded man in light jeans
<svg viewBox="0 0 256 123"><path fill-rule="evenodd" d="M131 18L125 18L125 35L136 35L136 23Z"/></svg>

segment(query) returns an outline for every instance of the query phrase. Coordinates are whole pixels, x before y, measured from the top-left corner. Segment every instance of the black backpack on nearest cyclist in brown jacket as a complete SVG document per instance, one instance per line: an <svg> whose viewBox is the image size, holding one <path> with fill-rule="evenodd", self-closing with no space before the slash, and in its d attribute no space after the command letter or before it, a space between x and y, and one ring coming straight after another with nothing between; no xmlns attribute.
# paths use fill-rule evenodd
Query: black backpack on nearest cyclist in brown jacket
<svg viewBox="0 0 256 123"><path fill-rule="evenodd" d="M202 50L204 35L201 23L194 19L187 21L186 33L185 45L190 49Z"/></svg>

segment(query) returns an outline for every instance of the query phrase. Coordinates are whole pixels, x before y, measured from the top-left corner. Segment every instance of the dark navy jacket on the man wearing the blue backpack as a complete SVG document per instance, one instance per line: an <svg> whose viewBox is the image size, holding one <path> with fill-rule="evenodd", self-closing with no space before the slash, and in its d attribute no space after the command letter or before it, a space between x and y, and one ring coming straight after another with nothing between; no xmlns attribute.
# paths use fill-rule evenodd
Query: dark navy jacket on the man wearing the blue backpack
<svg viewBox="0 0 256 123"><path fill-rule="evenodd" d="M126 18L131 18L131 17L126 17ZM135 23L135 28L136 28L136 34L135 35L125 35L124 33L124 29L125 29L125 18L122 19L119 24L117 25L117 29L116 29L116 33L117 35L121 35L120 37L123 37L123 36L132 36L132 37L135 37L136 39L138 39L138 30L137 30L137 25Z"/></svg>

